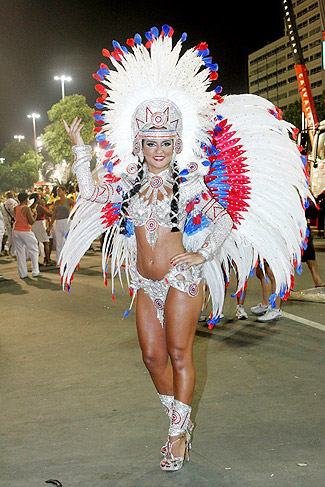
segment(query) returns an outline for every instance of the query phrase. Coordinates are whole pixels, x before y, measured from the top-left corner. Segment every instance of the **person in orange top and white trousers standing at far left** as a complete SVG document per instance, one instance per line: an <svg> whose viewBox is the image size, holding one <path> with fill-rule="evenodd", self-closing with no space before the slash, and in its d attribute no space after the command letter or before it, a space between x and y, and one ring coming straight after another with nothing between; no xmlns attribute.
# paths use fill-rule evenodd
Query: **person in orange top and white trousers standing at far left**
<svg viewBox="0 0 325 487"><path fill-rule="evenodd" d="M13 240L16 248L18 274L21 279L28 276L26 251L32 261L32 277L39 275L38 242L32 232L32 225L36 220L36 209L28 207L28 194L19 193L19 205L14 208L15 223L13 226Z"/></svg>

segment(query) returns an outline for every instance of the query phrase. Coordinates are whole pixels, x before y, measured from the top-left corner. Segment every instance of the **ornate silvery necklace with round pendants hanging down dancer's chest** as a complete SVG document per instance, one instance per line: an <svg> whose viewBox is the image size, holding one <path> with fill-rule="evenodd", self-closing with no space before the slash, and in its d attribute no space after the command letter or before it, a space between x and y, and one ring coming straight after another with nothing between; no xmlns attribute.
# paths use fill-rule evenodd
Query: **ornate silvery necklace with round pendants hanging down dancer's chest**
<svg viewBox="0 0 325 487"><path fill-rule="evenodd" d="M172 189L173 179L170 175L170 169L167 168L159 174L152 174L145 168L144 184L141 191L146 191L142 196L144 200L149 200L152 196L151 203L148 201L150 207L150 215L145 223L146 239L152 250L154 250L158 239L158 220L157 216L162 210L163 203L167 203L168 192L166 188ZM162 200L158 200L158 193L161 193ZM168 203L169 204L169 203Z"/></svg>

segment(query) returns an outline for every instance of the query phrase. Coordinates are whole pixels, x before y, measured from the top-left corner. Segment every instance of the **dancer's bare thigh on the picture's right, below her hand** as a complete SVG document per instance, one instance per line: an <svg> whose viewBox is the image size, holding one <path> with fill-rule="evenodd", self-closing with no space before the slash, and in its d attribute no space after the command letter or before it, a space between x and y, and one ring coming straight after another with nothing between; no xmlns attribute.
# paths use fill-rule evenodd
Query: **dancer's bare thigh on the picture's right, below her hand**
<svg viewBox="0 0 325 487"><path fill-rule="evenodd" d="M172 350L190 350L203 303L203 283L199 293L190 297L173 287L169 288L165 303L165 327L169 353Z"/></svg>

